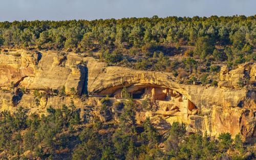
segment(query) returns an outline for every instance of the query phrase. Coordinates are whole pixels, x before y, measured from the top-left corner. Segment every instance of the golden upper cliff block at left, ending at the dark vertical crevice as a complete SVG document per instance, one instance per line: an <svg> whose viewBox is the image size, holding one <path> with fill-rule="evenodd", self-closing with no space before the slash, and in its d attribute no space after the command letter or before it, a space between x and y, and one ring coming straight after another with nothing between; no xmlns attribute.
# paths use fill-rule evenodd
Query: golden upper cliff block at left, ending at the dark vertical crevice
<svg viewBox="0 0 256 160"><path fill-rule="evenodd" d="M52 52L26 51L1 54L0 87L13 85L44 90L65 86L66 94L71 94L71 88L74 87L75 92L80 95L86 77L86 70L81 62L82 59L75 54L66 56Z"/></svg>

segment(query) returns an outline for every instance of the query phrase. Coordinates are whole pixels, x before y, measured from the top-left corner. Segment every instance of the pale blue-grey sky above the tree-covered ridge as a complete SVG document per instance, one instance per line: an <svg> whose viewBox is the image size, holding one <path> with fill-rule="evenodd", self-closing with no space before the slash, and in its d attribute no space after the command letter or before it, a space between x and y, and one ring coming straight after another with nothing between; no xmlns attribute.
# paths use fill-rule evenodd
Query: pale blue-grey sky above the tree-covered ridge
<svg viewBox="0 0 256 160"><path fill-rule="evenodd" d="M0 21L256 14L256 0L0 0Z"/></svg>

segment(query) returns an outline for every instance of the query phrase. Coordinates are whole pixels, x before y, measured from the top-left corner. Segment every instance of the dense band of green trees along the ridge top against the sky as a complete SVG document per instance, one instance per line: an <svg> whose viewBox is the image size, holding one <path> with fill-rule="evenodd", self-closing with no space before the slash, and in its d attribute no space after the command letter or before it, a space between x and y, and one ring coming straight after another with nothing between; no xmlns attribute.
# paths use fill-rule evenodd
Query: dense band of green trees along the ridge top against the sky
<svg viewBox="0 0 256 160"><path fill-rule="evenodd" d="M211 45L197 51L202 59L215 45L231 47L226 55L217 55L220 60L226 56L245 61L255 48L255 36L255 15L0 22L0 45L6 47L90 51L95 45L112 50L146 44Z"/></svg>

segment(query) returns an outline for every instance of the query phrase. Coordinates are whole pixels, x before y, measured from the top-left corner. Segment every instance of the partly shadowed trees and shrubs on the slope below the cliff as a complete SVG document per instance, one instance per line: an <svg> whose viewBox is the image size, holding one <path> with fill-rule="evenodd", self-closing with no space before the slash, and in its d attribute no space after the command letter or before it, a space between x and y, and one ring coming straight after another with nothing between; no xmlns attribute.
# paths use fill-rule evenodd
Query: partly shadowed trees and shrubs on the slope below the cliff
<svg viewBox="0 0 256 160"><path fill-rule="evenodd" d="M102 112L112 106L108 98L101 103ZM13 115L1 112L0 156L2 159L77 160L255 158L255 149L245 145L239 134L234 139L229 133L210 138L207 132L191 133L185 124L178 122L163 134L148 118L140 125L136 123L138 106L131 97L113 105L123 107L118 122L80 119L80 110L73 102L59 109L50 107L47 115L41 117L35 113L28 117L22 107Z"/></svg>

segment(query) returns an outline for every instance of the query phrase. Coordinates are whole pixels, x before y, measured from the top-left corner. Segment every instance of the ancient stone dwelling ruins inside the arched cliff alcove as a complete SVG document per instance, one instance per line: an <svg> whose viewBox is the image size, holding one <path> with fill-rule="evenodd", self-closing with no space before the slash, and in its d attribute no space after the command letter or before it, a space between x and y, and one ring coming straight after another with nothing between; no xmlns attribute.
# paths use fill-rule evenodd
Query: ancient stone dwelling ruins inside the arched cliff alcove
<svg viewBox="0 0 256 160"><path fill-rule="evenodd" d="M100 94L110 95L113 99L123 99L121 86L110 87ZM196 115L198 108L193 102L176 90L152 84L132 84L126 87L133 99L140 101L150 99L157 106L156 115L183 116Z"/></svg>

